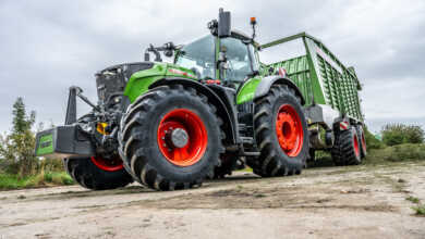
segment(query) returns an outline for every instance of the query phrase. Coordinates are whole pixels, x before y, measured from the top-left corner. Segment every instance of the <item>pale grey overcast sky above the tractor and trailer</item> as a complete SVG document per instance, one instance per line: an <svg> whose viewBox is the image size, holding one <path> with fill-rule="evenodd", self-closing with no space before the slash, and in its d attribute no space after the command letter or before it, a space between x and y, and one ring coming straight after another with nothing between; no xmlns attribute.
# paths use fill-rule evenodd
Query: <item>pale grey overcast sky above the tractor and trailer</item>
<svg viewBox="0 0 425 239"><path fill-rule="evenodd" d="M208 34L220 7L232 12L232 27L247 34L256 16L263 43L300 32L321 39L355 67L374 131L390 122L425 125L425 1L229 2L1 0L0 131L10 130L20 96L38 122L62 124L69 86L96 101L96 71L141 61L148 43Z"/></svg>

